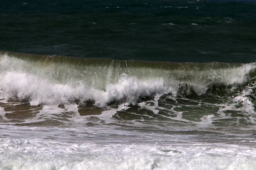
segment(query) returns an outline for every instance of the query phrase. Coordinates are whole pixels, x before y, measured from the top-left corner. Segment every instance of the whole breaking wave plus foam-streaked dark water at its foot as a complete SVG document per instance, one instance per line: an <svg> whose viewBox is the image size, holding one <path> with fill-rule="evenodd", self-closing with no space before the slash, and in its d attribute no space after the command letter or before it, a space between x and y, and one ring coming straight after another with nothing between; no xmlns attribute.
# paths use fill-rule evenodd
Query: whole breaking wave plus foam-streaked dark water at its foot
<svg viewBox="0 0 256 170"><path fill-rule="evenodd" d="M0 94L31 107L76 105L80 115L113 111L116 120L254 124L255 68L2 51ZM88 107L95 110L87 113Z"/></svg>

